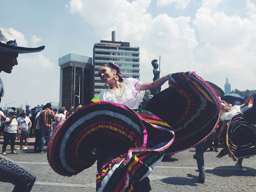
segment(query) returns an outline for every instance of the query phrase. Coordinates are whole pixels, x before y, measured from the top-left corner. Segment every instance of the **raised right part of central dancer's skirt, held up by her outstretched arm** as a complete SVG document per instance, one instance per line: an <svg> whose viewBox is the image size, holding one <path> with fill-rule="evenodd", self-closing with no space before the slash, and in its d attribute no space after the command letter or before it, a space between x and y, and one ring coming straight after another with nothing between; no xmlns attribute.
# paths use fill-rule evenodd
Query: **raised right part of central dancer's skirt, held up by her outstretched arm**
<svg viewBox="0 0 256 192"><path fill-rule="evenodd" d="M171 126L175 140L166 153L174 154L206 139L217 127L221 104L213 87L195 72L174 73L169 88L143 107Z"/></svg>

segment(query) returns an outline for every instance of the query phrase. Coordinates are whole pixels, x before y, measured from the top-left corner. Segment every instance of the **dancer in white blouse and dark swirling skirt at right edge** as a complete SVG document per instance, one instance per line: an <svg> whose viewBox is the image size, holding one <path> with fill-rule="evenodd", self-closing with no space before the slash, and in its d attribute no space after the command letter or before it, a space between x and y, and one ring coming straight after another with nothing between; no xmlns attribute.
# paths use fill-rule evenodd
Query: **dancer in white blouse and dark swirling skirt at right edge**
<svg viewBox="0 0 256 192"><path fill-rule="evenodd" d="M218 141L220 141L221 137L224 137L225 141L223 149L216 157L221 158L229 154L234 161L237 161L238 158L235 167L242 171L246 171L242 166L243 158L256 155L256 153L253 152L255 151L253 148L255 148L256 134L250 124L250 121L253 120L254 117L248 119L246 115L241 112L242 108L249 105L249 101L253 95L255 97L255 94L249 95L245 103L239 106L234 105L231 107L227 102L221 101L221 108L226 111L226 113L221 116L223 123L219 131ZM247 112L249 113L248 117L253 113L254 109L255 107L252 107L252 111Z"/></svg>

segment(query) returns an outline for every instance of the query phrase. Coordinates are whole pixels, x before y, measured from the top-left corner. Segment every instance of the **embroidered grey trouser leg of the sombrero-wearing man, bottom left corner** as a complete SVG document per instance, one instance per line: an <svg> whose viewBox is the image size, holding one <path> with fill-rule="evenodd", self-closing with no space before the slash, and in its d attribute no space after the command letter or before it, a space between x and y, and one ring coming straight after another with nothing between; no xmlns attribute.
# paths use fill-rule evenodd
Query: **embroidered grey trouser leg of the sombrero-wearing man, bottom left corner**
<svg viewBox="0 0 256 192"><path fill-rule="evenodd" d="M0 154L0 182L12 183L12 192L31 191L36 178L29 168Z"/></svg>

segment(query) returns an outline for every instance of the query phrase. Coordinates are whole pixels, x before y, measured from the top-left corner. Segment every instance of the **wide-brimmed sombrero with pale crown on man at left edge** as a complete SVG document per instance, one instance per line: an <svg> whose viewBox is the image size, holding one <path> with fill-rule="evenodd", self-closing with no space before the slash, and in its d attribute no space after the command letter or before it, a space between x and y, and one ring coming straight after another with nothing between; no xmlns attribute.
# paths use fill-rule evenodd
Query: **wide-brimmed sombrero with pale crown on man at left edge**
<svg viewBox="0 0 256 192"><path fill-rule="evenodd" d="M41 47L18 47L13 34L7 29L0 28L0 52L35 53L45 49Z"/></svg>

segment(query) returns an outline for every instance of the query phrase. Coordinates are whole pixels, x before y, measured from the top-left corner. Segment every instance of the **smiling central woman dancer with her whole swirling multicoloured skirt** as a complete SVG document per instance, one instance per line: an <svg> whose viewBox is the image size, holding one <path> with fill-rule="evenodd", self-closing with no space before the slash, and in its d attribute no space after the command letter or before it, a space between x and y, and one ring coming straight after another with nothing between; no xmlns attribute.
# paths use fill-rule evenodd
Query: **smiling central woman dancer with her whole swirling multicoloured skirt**
<svg viewBox="0 0 256 192"><path fill-rule="evenodd" d="M182 135L178 147L172 149L174 153L196 145L216 127L220 109L218 97L194 72L169 74L150 83L124 79L114 63L101 66L98 73L109 89L100 93L99 102L75 111L55 131L49 142L48 161L61 175L76 175L97 160L97 191L150 191L147 176L170 149L174 133L156 115L132 109L138 108L145 90L156 89L168 80L171 80L168 90L159 93L161 98L165 98L161 100L158 94L155 95L156 99L153 97L148 107L155 100L163 105L162 102L170 100L173 95L175 97L171 102L183 101L179 111L173 110L175 118L169 116L168 119ZM166 112L162 107L162 113L172 114L169 105L173 104L165 105ZM185 144L188 136L193 139ZM94 148L97 149L95 154L91 153Z"/></svg>

